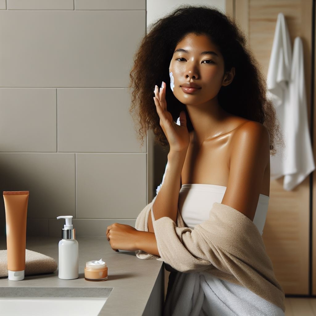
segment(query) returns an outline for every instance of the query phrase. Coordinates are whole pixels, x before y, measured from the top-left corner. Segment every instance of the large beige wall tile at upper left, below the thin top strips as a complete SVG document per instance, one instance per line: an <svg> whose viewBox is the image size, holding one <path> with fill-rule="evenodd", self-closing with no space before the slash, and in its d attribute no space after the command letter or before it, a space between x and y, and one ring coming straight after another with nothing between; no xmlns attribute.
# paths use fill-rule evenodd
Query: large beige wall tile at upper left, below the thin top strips
<svg viewBox="0 0 316 316"><path fill-rule="evenodd" d="M0 59L0 87L128 87L145 17L145 10L0 11L1 55L9 56Z"/></svg>

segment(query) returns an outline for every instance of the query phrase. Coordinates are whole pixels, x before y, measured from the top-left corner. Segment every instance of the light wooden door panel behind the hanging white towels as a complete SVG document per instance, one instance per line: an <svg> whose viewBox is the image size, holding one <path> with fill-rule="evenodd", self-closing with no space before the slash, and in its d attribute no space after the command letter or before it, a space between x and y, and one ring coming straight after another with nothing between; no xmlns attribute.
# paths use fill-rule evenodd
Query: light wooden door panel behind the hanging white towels
<svg viewBox="0 0 316 316"><path fill-rule="evenodd" d="M231 8L235 8L235 15ZM246 33L248 45L265 76L277 15L279 12L285 15L292 48L296 36L303 41L310 118L312 0L228 0L227 10ZM269 209L262 237L286 294L308 295L309 190L309 177L292 191L283 189L283 177L270 182Z"/></svg>

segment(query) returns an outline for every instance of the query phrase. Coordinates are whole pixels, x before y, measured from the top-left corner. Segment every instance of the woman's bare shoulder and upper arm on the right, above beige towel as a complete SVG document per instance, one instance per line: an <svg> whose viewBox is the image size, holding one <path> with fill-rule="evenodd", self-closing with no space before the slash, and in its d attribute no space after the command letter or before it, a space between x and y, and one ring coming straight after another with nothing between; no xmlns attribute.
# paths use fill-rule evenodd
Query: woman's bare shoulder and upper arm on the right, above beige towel
<svg viewBox="0 0 316 316"><path fill-rule="evenodd" d="M249 121L231 140L230 171L222 204L255 216L264 170L270 161L270 135L261 123Z"/></svg>

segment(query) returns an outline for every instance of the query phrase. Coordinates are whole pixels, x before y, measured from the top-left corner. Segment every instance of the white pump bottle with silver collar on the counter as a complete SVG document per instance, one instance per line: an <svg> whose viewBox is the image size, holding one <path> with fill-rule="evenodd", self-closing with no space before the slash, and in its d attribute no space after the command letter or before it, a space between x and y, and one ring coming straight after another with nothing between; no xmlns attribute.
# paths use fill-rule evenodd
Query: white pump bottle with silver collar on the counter
<svg viewBox="0 0 316 316"><path fill-rule="evenodd" d="M79 247L75 228L71 223L72 217L71 215L57 217L66 220L66 225L62 229L62 240L58 243L58 277L64 280L79 277Z"/></svg>

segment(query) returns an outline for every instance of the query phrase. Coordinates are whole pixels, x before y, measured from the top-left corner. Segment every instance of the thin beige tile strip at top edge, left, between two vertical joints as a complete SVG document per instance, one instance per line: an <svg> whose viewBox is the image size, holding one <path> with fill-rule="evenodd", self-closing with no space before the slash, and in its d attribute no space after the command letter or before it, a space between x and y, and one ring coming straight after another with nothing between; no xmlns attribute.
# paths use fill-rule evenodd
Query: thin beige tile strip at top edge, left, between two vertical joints
<svg viewBox="0 0 316 316"><path fill-rule="evenodd" d="M7 0L8 10L73 10L74 0Z"/></svg>

